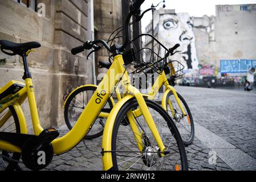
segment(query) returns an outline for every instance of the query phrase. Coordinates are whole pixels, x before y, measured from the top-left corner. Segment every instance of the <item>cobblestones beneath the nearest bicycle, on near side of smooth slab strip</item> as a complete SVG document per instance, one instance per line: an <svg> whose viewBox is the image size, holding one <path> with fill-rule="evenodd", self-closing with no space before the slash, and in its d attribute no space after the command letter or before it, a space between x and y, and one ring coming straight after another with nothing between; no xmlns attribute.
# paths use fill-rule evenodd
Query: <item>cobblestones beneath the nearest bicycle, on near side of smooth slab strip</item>
<svg viewBox="0 0 256 182"><path fill-rule="evenodd" d="M62 134L66 131L62 131ZM60 156L54 156L52 163L43 171L101 171L101 137L94 140L84 140L71 151ZM209 164L209 148L204 146L197 138L191 146L186 147L189 170L216 171L231 170L220 158L216 165ZM21 164L23 170L28 170Z"/></svg>

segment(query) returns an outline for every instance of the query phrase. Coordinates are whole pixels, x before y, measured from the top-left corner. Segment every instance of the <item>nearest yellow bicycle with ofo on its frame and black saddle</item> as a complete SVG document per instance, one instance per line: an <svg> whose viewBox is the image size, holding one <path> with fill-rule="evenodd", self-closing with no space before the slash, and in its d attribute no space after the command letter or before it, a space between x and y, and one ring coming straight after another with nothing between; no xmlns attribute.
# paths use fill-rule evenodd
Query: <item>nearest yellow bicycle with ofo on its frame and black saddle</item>
<svg viewBox="0 0 256 182"><path fill-rule="evenodd" d="M43 129L40 126L34 86L27 64L27 55L31 49L40 47L40 44L16 44L0 40L1 51L7 55L21 56L25 70L25 84L10 81L0 89L0 113L3 113L0 118L0 160L3 161L3 168L19 169L21 157L26 167L33 170L43 169L51 163L54 155L71 150L90 131L115 86L120 82L126 92L113 107L105 123L101 151L103 169L188 169L185 147L177 127L162 107L144 99L139 90L132 86L125 68L122 52L129 42L129 21L132 15L138 21L142 18L144 14L140 15L139 9L143 2L144 0L137 0L130 6L123 46L109 47L103 40L95 40L72 49L75 54L84 49L100 49L104 46L113 53L114 61L72 130L60 138L57 138L57 130ZM164 60L166 61L166 57L162 59ZM26 119L21 109L26 98L29 100L34 135L27 134ZM125 117L128 118L129 127L124 128L121 122Z"/></svg>

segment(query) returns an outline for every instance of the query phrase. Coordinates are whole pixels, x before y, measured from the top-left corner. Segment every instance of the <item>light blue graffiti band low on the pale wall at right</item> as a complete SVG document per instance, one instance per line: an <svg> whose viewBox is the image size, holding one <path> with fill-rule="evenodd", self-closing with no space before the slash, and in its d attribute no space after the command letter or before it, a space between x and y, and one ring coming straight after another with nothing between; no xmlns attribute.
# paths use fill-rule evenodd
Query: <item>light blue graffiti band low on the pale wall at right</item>
<svg viewBox="0 0 256 182"><path fill-rule="evenodd" d="M250 68L256 68L256 60L221 60L221 73L246 73Z"/></svg>

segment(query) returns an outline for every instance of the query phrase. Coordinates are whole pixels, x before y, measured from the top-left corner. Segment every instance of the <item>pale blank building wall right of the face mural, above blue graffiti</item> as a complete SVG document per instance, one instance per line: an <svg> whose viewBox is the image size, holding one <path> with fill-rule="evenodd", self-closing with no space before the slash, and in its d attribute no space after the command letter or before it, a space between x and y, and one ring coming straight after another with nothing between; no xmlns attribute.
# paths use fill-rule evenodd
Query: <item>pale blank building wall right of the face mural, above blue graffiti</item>
<svg viewBox="0 0 256 182"><path fill-rule="evenodd" d="M256 59L256 5L218 5L216 17L193 17L198 60Z"/></svg>

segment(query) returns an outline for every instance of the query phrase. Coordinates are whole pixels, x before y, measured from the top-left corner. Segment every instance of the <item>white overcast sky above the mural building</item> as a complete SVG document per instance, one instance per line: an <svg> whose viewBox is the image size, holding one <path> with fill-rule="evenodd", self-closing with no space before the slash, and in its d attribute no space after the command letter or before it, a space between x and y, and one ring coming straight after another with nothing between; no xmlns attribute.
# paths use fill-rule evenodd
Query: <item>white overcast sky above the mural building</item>
<svg viewBox="0 0 256 182"><path fill-rule="evenodd" d="M162 0L146 0L141 10L151 7L152 3L156 6ZM190 16L215 15L215 5L242 5L253 4L256 0L165 0L165 9L175 9L176 13L189 13ZM159 7L162 7L162 3ZM157 9L159 9L157 7ZM142 19L143 31L152 20L152 13L148 12Z"/></svg>

